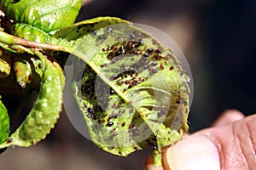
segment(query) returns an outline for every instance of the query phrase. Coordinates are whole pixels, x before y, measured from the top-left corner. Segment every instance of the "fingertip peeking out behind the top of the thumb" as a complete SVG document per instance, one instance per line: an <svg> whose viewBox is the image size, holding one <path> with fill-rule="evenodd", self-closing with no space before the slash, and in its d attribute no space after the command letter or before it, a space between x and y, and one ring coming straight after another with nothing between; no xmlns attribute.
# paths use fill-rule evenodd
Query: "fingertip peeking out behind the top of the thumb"
<svg viewBox="0 0 256 170"><path fill-rule="evenodd" d="M212 127L222 127L228 125L232 122L239 121L244 118L244 115L241 111L237 110L228 110L218 117L217 121L212 124Z"/></svg>

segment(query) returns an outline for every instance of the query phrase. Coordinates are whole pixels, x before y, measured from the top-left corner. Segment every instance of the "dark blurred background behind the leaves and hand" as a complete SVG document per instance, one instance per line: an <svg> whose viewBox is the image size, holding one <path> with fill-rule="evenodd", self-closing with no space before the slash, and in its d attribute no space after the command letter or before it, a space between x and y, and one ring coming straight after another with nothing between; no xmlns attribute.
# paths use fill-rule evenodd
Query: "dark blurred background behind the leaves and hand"
<svg viewBox="0 0 256 170"><path fill-rule="evenodd" d="M227 109L246 115L256 112L256 1L85 0L78 21L106 15L153 26L182 49L194 79L190 133L211 126ZM14 92L3 101L11 107L15 99L19 96ZM84 139L63 111L46 140L29 149L9 148L0 156L0 166L9 170L140 170L149 155L149 149L125 158L105 153Z"/></svg>

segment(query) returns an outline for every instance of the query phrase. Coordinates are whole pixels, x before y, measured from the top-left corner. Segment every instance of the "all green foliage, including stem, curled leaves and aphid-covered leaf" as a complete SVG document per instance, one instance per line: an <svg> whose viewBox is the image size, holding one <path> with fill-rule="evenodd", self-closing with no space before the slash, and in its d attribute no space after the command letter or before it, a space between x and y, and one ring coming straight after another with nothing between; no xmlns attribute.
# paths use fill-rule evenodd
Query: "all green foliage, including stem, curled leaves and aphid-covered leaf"
<svg viewBox="0 0 256 170"><path fill-rule="evenodd" d="M68 54L74 54L78 63L81 59L86 63L82 71L75 66L74 72L83 77L76 77L72 88L92 141L118 156L151 144L154 163L160 165L161 149L188 130L188 77L172 50L119 18L98 17L73 24L79 0L6 0L0 4L14 20L12 34L1 23L6 32L0 31L0 47L9 51L11 59L1 57L0 82L10 83L0 85L17 83L15 87L38 92L15 133L9 137L9 127L0 127L0 132L7 129L0 136L0 148L36 144L55 126L65 82L61 66ZM9 73L10 65L13 73ZM1 115L1 126L9 123L7 112Z"/></svg>

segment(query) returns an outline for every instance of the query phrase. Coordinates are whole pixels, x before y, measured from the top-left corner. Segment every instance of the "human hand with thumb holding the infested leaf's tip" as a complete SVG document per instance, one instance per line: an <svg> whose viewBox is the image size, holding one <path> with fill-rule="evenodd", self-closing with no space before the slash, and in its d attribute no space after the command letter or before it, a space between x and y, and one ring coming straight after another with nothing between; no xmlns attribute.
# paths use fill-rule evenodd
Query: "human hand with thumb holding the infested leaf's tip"
<svg viewBox="0 0 256 170"><path fill-rule="evenodd" d="M225 111L212 125L163 151L163 167L148 170L254 170L256 169L256 114L244 117L240 111Z"/></svg>

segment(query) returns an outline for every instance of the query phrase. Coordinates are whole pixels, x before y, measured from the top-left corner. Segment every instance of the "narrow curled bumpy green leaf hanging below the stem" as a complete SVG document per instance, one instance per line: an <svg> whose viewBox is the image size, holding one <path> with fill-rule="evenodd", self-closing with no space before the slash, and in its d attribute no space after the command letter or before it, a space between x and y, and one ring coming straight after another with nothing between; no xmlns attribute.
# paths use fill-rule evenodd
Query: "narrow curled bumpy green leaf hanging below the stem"
<svg viewBox="0 0 256 170"><path fill-rule="evenodd" d="M36 52L37 53L37 52ZM62 109L62 89L64 77L61 67L44 56L37 53L42 59L42 69L44 71L43 82L38 98L32 107L32 111L20 127L9 137L9 141L0 144L0 148L10 145L31 146L44 139L55 127Z"/></svg>

